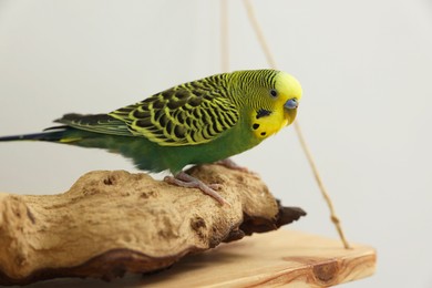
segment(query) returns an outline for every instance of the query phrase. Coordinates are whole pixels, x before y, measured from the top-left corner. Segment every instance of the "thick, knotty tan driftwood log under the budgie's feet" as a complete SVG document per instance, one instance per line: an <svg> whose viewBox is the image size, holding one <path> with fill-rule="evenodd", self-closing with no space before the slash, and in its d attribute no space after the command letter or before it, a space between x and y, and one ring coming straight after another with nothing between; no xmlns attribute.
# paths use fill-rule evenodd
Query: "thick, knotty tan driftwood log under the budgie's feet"
<svg viewBox="0 0 432 288"><path fill-rule="evenodd" d="M124 171L88 173L59 195L0 193L0 285L155 271L305 215L280 206L253 174L218 165L189 173L223 184L232 207Z"/></svg>

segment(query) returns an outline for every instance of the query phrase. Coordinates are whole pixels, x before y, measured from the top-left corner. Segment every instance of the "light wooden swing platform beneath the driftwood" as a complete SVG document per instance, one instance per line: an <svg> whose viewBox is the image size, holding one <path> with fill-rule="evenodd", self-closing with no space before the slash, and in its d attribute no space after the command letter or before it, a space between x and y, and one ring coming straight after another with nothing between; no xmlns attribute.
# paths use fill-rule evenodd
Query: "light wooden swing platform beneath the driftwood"
<svg viewBox="0 0 432 288"><path fill-rule="evenodd" d="M208 253L186 257L152 276L127 276L110 287L322 287L371 276L372 247L280 229L224 244ZM105 287L99 280L58 279L34 287Z"/></svg>

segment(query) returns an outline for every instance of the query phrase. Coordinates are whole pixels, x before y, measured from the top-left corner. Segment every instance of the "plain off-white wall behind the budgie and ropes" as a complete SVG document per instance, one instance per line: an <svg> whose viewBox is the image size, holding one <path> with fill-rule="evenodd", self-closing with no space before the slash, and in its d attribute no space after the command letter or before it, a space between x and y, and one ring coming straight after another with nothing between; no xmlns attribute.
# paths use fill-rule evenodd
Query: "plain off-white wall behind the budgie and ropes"
<svg viewBox="0 0 432 288"><path fill-rule="evenodd" d="M346 287L432 287L432 2L254 1L278 66L304 85L300 121L347 237L378 249ZM230 69L267 68L243 3L229 3ZM218 1L0 0L0 134L101 113L220 72ZM292 127L235 160L337 237ZM54 194L104 151L1 143L0 191Z"/></svg>

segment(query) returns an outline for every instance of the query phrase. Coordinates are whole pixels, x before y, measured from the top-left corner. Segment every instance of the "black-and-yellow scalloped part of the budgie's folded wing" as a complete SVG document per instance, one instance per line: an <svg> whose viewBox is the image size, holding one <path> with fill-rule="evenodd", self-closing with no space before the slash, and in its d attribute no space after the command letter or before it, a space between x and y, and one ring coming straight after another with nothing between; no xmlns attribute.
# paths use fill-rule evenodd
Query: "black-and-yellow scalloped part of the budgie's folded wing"
<svg viewBox="0 0 432 288"><path fill-rule="evenodd" d="M233 101L203 82L175 86L109 115L126 123L135 136L144 136L162 146L210 142L239 119Z"/></svg>

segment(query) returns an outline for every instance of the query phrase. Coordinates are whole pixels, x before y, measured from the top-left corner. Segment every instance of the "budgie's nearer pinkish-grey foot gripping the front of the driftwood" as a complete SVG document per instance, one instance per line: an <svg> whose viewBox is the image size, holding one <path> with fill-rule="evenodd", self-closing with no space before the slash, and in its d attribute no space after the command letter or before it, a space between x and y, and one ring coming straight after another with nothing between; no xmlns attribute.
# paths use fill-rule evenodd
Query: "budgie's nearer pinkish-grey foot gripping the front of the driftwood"
<svg viewBox="0 0 432 288"><path fill-rule="evenodd" d="M174 177L173 176L166 176L164 181L168 184L173 184L179 187L186 187L186 188L198 188L204 194L207 194L208 196L215 198L218 203L222 205L228 205L230 204L222 197L216 189L219 189L222 187L220 184L205 184L202 181L191 176L189 174L184 173L183 171L177 173Z"/></svg>

